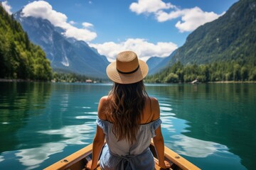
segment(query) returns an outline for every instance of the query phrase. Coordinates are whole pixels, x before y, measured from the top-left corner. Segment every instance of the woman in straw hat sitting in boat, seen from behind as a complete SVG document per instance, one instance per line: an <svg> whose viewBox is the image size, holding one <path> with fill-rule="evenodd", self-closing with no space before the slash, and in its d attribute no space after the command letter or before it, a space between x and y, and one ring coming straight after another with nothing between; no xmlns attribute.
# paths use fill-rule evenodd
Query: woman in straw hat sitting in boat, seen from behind
<svg viewBox="0 0 256 170"><path fill-rule="evenodd" d="M159 103L146 94L143 84L147 73L146 63L131 51L120 52L116 62L107 67L107 76L114 85L110 94L100 99L88 169L96 168L101 151L101 169L154 169L154 157L149 150L151 137L159 166L170 167L164 161Z"/></svg>

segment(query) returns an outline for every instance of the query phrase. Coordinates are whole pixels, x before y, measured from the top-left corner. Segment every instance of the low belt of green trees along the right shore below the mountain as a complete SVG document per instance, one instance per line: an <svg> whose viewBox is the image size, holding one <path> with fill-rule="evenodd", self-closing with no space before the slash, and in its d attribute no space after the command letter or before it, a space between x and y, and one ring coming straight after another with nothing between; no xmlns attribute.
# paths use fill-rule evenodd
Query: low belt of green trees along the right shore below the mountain
<svg viewBox="0 0 256 170"><path fill-rule="evenodd" d="M146 77L149 83L183 83L193 80L208 81L256 81L255 63L235 60L211 64L186 64L176 62L159 74Z"/></svg>

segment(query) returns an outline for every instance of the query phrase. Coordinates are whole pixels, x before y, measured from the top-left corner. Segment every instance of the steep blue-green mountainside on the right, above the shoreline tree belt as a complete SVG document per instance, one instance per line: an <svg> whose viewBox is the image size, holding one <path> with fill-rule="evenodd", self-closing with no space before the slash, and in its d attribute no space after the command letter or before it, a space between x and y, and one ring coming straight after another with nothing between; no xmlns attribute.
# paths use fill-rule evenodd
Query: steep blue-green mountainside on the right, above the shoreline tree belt
<svg viewBox="0 0 256 170"><path fill-rule="evenodd" d="M193 31L179 47L171 64L205 64L216 61L255 60L256 1L240 0L217 20Z"/></svg>

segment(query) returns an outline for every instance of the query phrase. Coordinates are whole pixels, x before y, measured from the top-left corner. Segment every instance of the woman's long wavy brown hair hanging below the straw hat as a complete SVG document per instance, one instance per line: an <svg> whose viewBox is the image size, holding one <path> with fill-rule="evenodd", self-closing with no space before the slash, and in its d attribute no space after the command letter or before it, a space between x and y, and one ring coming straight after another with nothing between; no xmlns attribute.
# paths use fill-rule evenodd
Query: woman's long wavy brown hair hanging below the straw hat
<svg viewBox="0 0 256 170"><path fill-rule="evenodd" d="M114 83L112 86L107 113L118 141L126 139L129 143L136 142L147 97L143 80L134 84Z"/></svg>

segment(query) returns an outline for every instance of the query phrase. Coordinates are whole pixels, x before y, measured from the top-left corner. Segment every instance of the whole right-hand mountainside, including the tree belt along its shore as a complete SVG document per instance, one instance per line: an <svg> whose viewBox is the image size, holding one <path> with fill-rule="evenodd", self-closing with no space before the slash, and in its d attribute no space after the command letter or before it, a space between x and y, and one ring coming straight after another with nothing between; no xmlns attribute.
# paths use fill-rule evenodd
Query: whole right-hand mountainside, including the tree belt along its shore
<svg viewBox="0 0 256 170"><path fill-rule="evenodd" d="M256 1L238 1L223 16L188 35L170 67L147 81L255 81L255 18Z"/></svg>

